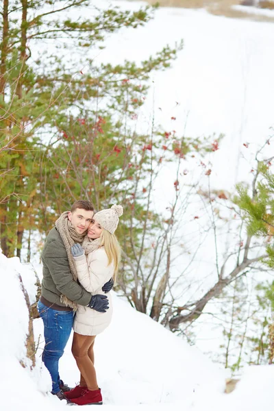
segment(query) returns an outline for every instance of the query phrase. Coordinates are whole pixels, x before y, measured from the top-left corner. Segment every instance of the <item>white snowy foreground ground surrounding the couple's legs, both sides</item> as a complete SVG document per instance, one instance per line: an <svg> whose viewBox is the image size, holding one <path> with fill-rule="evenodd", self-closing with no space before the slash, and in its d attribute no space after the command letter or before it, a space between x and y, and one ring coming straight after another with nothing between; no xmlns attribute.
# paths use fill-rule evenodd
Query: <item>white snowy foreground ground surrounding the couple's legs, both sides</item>
<svg viewBox="0 0 274 411"><path fill-rule="evenodd" d="M34 273L16 258L0 254L0 393L1 411L46 411L65 408L49 394L49 373L41 362L42 320L34 321L36 367L25 358L28 312L18 282L21 273L32 295ZM10 290L10 291L9 291ZM11 298L12 296L12 298ZM247 369L232 394L225 394L225 371L195 347L136 312L113 293L114 318L95 345L96 368L104 407L115 410L257 411L272 403L274 366ZM16 303L14 303L14 301ZM26 366L23 368L19 361ZM71 354L71 339L60 360L61 377L74 386L79 371Z"/></svg>

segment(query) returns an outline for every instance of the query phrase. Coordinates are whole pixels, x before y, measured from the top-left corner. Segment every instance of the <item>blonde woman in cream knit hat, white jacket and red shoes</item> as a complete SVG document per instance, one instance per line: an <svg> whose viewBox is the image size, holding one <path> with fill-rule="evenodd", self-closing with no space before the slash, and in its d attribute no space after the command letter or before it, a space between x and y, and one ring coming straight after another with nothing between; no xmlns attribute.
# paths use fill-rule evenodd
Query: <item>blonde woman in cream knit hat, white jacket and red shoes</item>
<svg viewBox="0 0 274 411"><path fill-rule="evenodd" d="M114 232L119 223L123 207L116 204L108 210L95 214L88 235L82 246L71 247L75 259L79 282L92 295L102 294L102 286L110 278L115 280L119 269L121 251ZM91 308L77 306L73 323L72 353L81 373L80 383L66 393L66 398L79 406L102 404L101 390L97 384L93 347L95 336L110 325L112 300L108 296L110 308L97 312Z"/></svg>

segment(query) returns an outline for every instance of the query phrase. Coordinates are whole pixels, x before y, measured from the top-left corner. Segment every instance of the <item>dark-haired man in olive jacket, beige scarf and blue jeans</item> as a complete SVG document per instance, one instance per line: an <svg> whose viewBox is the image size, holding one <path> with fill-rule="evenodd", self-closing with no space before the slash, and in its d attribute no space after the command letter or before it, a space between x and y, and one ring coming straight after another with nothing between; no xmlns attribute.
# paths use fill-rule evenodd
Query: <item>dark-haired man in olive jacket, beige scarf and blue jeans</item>
<svg viewBox="0 0 274 411"><path fill-rule="evenodd" d="M92 296L77 282L71 246L82 244L92 220L94 208L90 201L76 201L71 211L64 212L55 222L42 250L42 292L38 312L44 323L45 349L42 360L52 379L53 395L65 399L70 388L62 382L58 372L59 360L69 340L77 304L93 310L108 310L108 297ZM102 290L109 292L110 280Z"/></svg>

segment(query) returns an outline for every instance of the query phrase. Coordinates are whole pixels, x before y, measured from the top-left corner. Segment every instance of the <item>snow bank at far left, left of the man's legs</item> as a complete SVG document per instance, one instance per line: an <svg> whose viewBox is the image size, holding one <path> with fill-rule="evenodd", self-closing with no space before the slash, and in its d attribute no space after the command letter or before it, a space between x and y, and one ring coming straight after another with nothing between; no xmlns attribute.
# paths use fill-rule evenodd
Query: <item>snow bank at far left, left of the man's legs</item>
<svg viewBox="0 0 274 411"><path fill-rule="evenodd" d="M33 271L27 269L18 259L6 258L0 253L1 284L1 339L0 339L0 393L1 410L47 410L43 403L45 395L38 391L40 378L45 377L45 370L29 371L30 362L26 358L25 338L28 332L29 313L21 288L18 274L24 273L25 288L33 290ZM25 364L25 368L20 362ZM50 383L49 378L45 379ZM50 384L48 384L48 387ZM44 387L45 389L45 387ZM54 404L53 404L54 406ZM54 411L55 408L52 408Z"/></svg>

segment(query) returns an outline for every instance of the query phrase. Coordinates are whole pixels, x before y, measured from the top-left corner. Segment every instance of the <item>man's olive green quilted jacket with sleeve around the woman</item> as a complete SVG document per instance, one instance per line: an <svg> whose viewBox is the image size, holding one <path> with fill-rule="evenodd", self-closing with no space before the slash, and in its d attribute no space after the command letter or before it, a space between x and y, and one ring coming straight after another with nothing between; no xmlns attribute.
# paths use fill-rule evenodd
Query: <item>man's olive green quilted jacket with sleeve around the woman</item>
<svg viewBox="0 0 274 411"><path fill-rule="evenodd" d="M64 307L60 295L87 306L92 295L73 279L64 242L54 227L47 236L42 250L42 296L51 303Z"/></svg>

